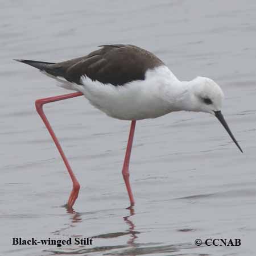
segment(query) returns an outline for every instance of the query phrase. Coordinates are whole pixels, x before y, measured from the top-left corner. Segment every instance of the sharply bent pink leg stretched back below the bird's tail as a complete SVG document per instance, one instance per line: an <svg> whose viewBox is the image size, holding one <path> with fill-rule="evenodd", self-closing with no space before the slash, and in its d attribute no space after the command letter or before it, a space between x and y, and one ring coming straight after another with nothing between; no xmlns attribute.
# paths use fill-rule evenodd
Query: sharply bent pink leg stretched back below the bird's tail
<svg viewBox="0 0 256 256"><path fill-rule="evenodd" d="M68 159L66 158L66 156L60 146L60 143L59 143L54 131L52 130L52 127L49 124L49 121L46 118L46 115L43 112L43 105L47 104L49 102L66 100L67 98L74 98L74 97L82 96L82 95L83 95L82 93L76 92L76 93L69 93L69 94L64 94L64 95L60 95L60 96L55 96L55 97L41 98L41 99L35 101L36 110L37 110L38 114L40 115L40 117L43 119L43 122L49 131L49 134L51 134L51 137L52 137L57 149L60 152L61 158L63 159L65 166L68 169L68 173L69 173L72 183L73 183L73 189L72 189L72 192L69 196L68 203L67 203L68 209L71 209L73 207L73 204L75 203L75 201L77 199L77 196L79 194L80 184L77 181L75 174L73 174L73 171L72 171L71 167L69 166Z"/></svg>

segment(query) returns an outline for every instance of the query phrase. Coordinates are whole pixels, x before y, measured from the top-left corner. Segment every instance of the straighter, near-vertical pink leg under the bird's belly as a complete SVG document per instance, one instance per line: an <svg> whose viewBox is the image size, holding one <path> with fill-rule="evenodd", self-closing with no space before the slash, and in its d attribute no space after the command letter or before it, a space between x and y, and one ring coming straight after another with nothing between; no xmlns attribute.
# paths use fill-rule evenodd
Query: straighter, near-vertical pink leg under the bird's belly
<svg viewBox="0 0 256 256"><path fill-rule="evenodd" d="M130 156L131 156L131 147L133 146L133 136L135 131L135 125L136 125L136 121L135 120L131 121L131 128L130 128L128 143L127 143L127 148L125 153L125 160L123 162L123 170L122 170L123 179L125 180L125 185L129 195L131 207L133 207L134 205L134 198L133 198L133 192L131 191L131 185L129 180L129 176L130 176L129 163L130 163Z"/></svg>

